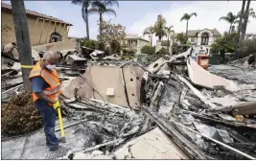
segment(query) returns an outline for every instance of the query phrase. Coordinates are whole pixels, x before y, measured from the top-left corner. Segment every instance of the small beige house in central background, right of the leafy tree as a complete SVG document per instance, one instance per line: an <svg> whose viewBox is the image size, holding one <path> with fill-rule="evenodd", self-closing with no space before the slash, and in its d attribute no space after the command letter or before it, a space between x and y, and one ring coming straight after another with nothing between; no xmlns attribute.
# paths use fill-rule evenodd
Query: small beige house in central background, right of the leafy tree
<svg viewBox="0 0 256 161"><path fill-rule="evenodd" d="M151 45L150 40L144 39L136 34L127 34L125 38L125 48L134 50L136 54L141 54L141 48L145 45Z"/></svg>

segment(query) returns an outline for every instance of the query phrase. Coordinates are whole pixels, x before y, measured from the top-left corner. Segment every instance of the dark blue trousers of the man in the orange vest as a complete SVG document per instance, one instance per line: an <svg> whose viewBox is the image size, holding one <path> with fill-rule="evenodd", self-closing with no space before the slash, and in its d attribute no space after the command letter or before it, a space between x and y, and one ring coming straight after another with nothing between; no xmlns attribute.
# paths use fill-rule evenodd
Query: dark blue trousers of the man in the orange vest
<svg viewBox="0 0 256 161"><path fill-rule="evenodd" d="M36 104L37 101L35 101L35 106L42 116L43 127L46 136L46 145L48 147L58 146L58 138L55 134L57 112L54 107L48 105L45 102L42 103L42 101L39 101L40 103Z"/></svg>

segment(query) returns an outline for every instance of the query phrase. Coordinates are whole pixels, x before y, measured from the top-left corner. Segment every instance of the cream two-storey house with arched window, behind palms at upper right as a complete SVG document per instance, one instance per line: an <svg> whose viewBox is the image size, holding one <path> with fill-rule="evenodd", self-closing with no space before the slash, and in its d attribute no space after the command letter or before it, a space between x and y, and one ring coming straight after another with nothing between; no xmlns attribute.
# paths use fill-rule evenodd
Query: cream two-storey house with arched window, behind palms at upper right
<svg viewBox="0 0 256 161"><path fill-rule="evenodd" d="M179 33L175 33L172 37L174 41L180 45L180 43L176 39L176 35ZM184 33L185 34L185 33ZM207 49L208 53L210 54L211 45L216 41L221 34L217 29L203 29L203 30L188 30L188 40L190 41L191 45L193 46L203 46ZM162 47L168 49L168 40L163 40L161 42ZM173 42L170 40L170 44L172 45Z"/></svg>

